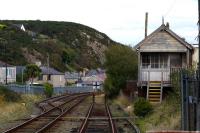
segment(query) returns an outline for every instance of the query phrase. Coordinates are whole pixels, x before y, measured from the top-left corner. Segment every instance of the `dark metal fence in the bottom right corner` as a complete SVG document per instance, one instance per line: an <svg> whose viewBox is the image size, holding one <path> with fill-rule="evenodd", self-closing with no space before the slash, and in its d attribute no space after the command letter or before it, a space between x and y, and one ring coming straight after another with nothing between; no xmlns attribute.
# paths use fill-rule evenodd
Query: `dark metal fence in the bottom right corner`
<svg viewBox="0 0 200 133"><path fill-rule="evenodd" d="M200 131L200 79L197 71L181 72L182 129Z"/></svg>

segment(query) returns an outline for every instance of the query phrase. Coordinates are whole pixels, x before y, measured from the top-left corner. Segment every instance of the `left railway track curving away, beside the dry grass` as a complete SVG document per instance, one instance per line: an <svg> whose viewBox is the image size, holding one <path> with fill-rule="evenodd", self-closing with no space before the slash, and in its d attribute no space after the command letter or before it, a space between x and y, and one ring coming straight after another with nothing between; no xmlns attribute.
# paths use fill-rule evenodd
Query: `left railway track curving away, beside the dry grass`
<svg viewBox="0 0 200 133"><path fill-rule="evenodd" d="M68 98L66 98L64 96L61 98L62 100L64 99L61 104L59 104L57 106L52 106L52 108L49 109L48 111L43 112L42 114L38 115L37 117L34 117L34 118L22 123L21 125L13 127L11 129L5 131L4 133L41 133L41 132L44 132L47 129L49 129L53 124L55 124L62 116L69 113L74 107L76 107L86 97L88 97L90 95L91 95L90 93L83 93L83 94L79 94L79 95L73 95ZM60 98L58 98L58 99L61 100ZM57 101L57 100L55 100L55 101ZM49 100L46 100L46 101L49 101Z"/></svg>

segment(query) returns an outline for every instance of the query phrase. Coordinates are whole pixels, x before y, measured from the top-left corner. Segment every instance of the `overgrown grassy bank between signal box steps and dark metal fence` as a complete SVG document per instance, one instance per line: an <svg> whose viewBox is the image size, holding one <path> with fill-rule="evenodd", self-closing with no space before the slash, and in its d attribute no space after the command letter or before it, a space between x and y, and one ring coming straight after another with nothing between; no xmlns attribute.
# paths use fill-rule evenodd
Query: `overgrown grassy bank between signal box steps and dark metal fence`
<svg viewBox="0 0 200 133"><path fill-rule="evenodd" d="M191 71L191 70L190 70ZM142 133L150 130L179 130L181 127L180 73L171 75L173 88L161 104L153 105L152 113L136 119Z"/></svg>

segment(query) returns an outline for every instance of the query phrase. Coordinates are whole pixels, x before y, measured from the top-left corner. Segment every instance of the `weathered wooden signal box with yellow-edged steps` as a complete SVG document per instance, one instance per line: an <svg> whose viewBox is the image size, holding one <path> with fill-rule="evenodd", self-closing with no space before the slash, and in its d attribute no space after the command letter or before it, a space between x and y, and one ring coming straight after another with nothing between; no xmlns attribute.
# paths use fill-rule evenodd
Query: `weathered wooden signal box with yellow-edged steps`
<svg viewBox="0 0 200 133"><path fill-rule="evenodd" d="M138 87L151 102L161 102L163 88L171 87L170 74L192 65L193 46L162 24L135 46Z"/></svg>

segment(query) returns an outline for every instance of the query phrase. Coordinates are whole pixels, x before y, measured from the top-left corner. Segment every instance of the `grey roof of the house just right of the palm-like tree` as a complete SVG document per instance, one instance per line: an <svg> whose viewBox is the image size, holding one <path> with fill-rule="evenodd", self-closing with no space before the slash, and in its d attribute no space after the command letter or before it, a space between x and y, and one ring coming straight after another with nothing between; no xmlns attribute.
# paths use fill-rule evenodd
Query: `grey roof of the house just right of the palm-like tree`
<svg viewBox="0 0 200 133"><path fill-rule="evenodd" d="M46 67L46 66L41 66L40 67L41 71L42 71L42 74L43 75L48 75L48 74L51 74L51 75L64 75L64 73L61 73L57 70L55 70L54 68L51 68L51 67Z"/></svg>

